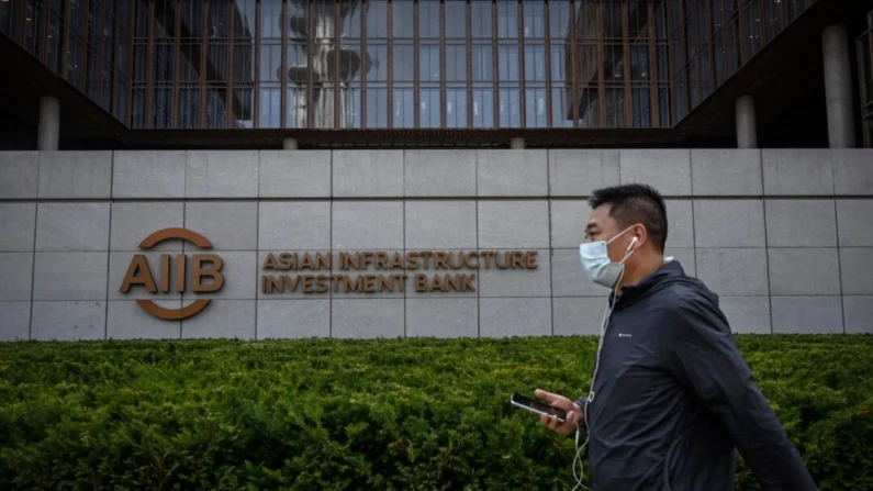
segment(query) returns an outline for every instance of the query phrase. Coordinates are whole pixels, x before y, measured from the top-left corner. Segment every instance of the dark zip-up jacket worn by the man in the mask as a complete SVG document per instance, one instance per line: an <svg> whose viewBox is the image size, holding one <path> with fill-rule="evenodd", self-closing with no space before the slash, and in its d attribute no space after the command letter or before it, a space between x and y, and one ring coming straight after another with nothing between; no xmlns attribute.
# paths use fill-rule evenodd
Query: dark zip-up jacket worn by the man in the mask
<svg viewBox="0 0 873 491"><path fill-rule="evenodd" d="M732 491L735 448L764 491L817 489L752 381L718 297L676 261L622 290L593 389L596 491Z"/></svg>

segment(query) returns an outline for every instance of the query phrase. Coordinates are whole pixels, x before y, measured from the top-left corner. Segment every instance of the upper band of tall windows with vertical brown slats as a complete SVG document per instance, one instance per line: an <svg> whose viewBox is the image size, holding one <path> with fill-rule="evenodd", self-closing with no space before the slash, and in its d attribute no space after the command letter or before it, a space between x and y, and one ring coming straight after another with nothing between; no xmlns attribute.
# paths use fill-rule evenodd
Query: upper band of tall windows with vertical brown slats
<svg viewBox="0 0 873 491"><path fill-rule="evenodd" d="M0 2L0 32L134 127L647 127L684 118L805 8L27 0Z"/></svg>

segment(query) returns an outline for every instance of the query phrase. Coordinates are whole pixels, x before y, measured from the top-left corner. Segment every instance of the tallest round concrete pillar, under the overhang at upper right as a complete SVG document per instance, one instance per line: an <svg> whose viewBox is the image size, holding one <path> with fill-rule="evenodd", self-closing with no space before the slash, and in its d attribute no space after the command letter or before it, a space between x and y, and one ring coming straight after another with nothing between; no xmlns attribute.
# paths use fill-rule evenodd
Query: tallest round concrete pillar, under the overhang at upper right
<svg viewBox="0 0 873 491"><path fill-rule="evenodd" d="M828 110L828 140L831 148L854 148L852 113L852 67L849 62L849 33L843 24L828 25L821 32L825 62L825 100Z"/></svg>

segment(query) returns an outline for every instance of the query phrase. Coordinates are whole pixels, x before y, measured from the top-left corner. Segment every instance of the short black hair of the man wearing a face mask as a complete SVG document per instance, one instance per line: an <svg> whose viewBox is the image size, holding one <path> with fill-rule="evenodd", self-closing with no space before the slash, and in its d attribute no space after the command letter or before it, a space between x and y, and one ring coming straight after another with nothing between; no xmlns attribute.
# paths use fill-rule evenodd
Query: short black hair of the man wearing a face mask
<svg viewBox="0 0 873 491"><path fill-rule="evenodd" d="M622 227L642 224L651 242L664 250L667 244L667 205L661 193L647 185L624 185L596 189L589 205L611 204L609 216Z"/></svg>

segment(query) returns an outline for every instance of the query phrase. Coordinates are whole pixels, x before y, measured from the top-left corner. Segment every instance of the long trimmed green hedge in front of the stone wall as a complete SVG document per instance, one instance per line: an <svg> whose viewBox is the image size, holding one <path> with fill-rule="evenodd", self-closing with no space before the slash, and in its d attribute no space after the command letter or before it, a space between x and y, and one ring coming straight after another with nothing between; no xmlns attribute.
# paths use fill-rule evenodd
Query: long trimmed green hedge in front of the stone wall
<svg viewBox="0 0 873 491"><path fill-rule="evenodd" d="M873 337L738 339L820 489L873 489ZM582 393L595 347L0 344L0 489L570 489L572 439L506 401Z"/></svg>

